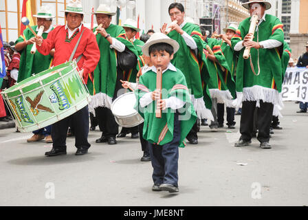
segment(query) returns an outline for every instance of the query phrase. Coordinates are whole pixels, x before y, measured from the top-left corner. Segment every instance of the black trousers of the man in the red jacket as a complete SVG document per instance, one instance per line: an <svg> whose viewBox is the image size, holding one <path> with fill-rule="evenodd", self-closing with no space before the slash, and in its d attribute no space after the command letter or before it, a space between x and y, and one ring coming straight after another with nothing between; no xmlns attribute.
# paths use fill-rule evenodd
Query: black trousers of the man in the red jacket
<svg viewBox="0 0 308 220"><path fill-rule="evenodd" d="M89 111L88 107L80 109L63 120L52 124L52 141L53 148L66 150L67 129L70 123L75 128L75 146L76 148L89 148Z"/></svg>

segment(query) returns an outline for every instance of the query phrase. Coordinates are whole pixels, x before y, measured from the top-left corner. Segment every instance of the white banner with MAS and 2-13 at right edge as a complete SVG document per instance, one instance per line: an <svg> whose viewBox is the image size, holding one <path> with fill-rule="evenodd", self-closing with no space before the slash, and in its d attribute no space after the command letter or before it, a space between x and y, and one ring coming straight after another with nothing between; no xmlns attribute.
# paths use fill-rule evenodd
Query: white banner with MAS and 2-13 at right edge
<svg viewBox="0 0 308 220"><path fill-rule="evenodd" d="M288 67L281 91L283 101L308 102L308 69Z"/></svg>

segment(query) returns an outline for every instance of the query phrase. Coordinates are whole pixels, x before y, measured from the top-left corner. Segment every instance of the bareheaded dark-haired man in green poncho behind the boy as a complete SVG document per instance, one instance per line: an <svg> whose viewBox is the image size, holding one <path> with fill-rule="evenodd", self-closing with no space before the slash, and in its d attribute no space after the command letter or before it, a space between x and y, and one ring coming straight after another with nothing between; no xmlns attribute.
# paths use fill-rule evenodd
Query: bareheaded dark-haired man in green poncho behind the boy
<svg viewBox="0 0 308 220"><path fill-rule="evenodd" d="M172 3L168 8L171 23L170 33L167 35L179 43L179 51L174 55L171 63L183 72L188 89L190 89L191 100L194 104L198 118L212 119L210 109L206 109L206 103L203 100L203 87L200 74L200 62L203 54L203 39L198 25L186 22L184 20L184 6L181 3ZM166 32L167 24L161 29ZM187 135L190 144L198 144L197 123Z"/></svg>

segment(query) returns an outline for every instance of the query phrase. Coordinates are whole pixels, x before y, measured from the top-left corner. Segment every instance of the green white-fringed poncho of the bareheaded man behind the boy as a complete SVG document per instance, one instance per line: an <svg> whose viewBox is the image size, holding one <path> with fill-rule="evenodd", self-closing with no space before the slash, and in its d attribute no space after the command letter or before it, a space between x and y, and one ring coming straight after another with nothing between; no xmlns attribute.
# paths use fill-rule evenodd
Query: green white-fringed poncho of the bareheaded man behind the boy
<svg viewBox="0 0 308 220"><path fill-rule="evenodd" d="M168 34L170 39L173 39L179 43L179 51L174 55L171 63L183 72L188 89L190 89L191 100L197 112L199 118L212 119L212 113L210 109L206 108L206 104L203 100L203 87L200 74L200 64L203 54L203 39L201 38L201 31L198 25L193 23L186 23L182 28L184 32L194 39L197 43L197 54L195 50L191 50L190 47L184 41L184 38L176 30L173 30Z"/></svg>

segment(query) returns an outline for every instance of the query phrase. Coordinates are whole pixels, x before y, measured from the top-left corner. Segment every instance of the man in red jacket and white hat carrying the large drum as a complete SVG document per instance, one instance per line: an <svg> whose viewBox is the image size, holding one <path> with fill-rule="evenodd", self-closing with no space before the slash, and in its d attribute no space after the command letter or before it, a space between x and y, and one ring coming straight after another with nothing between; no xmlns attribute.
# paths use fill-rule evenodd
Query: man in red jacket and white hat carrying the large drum
<svg viewBox="0 0 308 220"><path fill-rule="evenodd" d="M47 55L55 48L53 65L60 65L69 60L78 39L80 39L73 59L81 56L77 65L78 69L80 69L80 76L87 83L89 74L94 72L100 59L100 50L98 50L93 32L85 28L82 23L85 13L83 12L81 1L68 1L66 8L65 19L67 24L57 26L48 34L47 39L43 39L41 36L36 37L37 50L41 54ZM83 35L80 38L81 34ZM84 155L88 152L88 148L91 146L87 140L89 133L89 111L88 107L84 107L73 115L52 124L52 140L54 144L52 150L45 153L46 156L66 154L66 135L69 122L72 122L74 127L78 128L75 129L76 155Z"/></svg>

